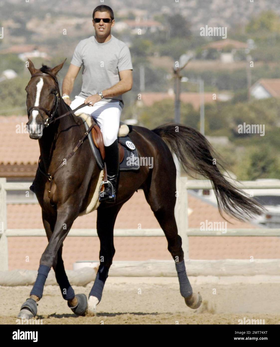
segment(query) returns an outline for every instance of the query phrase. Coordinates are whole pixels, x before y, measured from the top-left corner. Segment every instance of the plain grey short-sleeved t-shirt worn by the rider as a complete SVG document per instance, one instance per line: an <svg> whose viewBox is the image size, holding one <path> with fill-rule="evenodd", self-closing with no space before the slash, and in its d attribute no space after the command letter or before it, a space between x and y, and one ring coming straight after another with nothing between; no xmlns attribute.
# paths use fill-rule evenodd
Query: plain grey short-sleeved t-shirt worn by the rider
<svg viewBox="0 0 280 347"><path fill-rule="evenodd" d="M113 35L104 43L97 42L95 36L81 40L75 49L71 64L82 66L82 90L79 96L83 98L111 88L120 82L120 71L132 70L128 46ZM103 100L119 100L123 108L122 95Z"/></svg>

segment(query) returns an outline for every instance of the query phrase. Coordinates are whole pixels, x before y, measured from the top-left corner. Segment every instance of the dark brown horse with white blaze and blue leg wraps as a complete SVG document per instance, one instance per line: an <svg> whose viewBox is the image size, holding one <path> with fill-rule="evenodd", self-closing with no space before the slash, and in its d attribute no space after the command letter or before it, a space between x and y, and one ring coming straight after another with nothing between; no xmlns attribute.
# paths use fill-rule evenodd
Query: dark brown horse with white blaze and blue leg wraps
<svg viewBox="0 0 280 347"><path fill-rule="evenodd" d="M199 307L201 296L192 293L185 270L182 240L174 217L176 167L171 150L187 172L199 173L212 181L220 210L240 219L260 214L260 206L231 185L218 166L213 165L213 150L207 139L195 129L178 124L167 124L154 130L133 126L130 138L138 149L139 157L152 157L154 166L150 169L148 166L140 166L138 171L122 171L116 203L102 203L98 207L100 266L89 300L84 294L75 295L65 273L62 244L73 221L91 201L100 168L94 159L89 160L93 156L87 138L69 157L84 136L85 127L73 113L58 119L71 111L60 97L56 79L62 66L63 63L52 69L46 66L36 69L29 61L28 69L32 77L26 87L27 125L30 137L38 139L40 145L41 160L34 186L49 244L42 254L30 298L21 306L18 317L31 318L37 314L36 302L43 295L44 283L51 267L71 310L77 315L95 313L115 253L113 230L117 214L137 189L143 189L167 238L168 250L178 273L181 295L189 307Z"/></svg>

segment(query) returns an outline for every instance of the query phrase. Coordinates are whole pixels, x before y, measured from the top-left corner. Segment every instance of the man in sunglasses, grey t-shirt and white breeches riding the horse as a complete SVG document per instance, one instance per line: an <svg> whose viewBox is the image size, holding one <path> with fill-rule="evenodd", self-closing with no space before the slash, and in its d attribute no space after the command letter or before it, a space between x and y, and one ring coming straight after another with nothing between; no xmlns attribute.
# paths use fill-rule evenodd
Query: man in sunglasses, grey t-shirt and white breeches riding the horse
<svg viewBox="0 0 280 347"><path fill-rule="evenodd" d="M122 94L132 88L132 62L128 46L111 35L114 26L111 7L97 6L93 11L95 36L81 40L73 54L71 64L62 83L62 99L75 109L87 113L100 126L107 167L107 184L99 195L100 202L115 202L119 177L119 146L117 135L124 106ZM82 66L82 90L71 102L69 95ZM109 181L109 182L108 182Z"/></svg>

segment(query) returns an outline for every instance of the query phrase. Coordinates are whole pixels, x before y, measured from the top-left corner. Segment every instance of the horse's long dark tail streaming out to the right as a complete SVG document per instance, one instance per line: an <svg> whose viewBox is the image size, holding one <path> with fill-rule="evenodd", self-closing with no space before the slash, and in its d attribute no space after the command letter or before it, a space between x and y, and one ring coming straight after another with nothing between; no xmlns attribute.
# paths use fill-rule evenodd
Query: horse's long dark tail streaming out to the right
<svg viewBox="0 0 280 347"><path fill-rule="evenodd" d="M221 174L220 169L225 170L223 164L220 161L216 163L218 158L215 151L197 130L171 123L152 131L169 145L187 174L193 177L193 173L197 173L211 180L221 215L224 210L237 219L248 220L253 215L263 213L259 203L234 187Z"/></svg>

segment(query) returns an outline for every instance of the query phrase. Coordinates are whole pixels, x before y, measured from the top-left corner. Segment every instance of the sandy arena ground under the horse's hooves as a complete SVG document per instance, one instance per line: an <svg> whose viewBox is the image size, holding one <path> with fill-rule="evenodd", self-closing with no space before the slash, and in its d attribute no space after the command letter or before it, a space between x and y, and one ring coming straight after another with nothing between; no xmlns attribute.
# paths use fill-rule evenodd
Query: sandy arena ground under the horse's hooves
<svg viewBox="0 0 280 347"><path fill-rule="evenodd" d="M245 283L236 283L236 279L190 278L190 281L193 290L202 295L198 310L185 305L177 278L109 277L97 316L76 317L62 299L59 287L45 286L37 318L43 319L43 324L238 324L238 319L246 317L264 319L265 324L280 324L278 280L256 283L259 280L247 278ZM76 294L88 295L92 285L73 288ZM0 287L0 324L16 324L16 315L31 288Z"/></svg>

